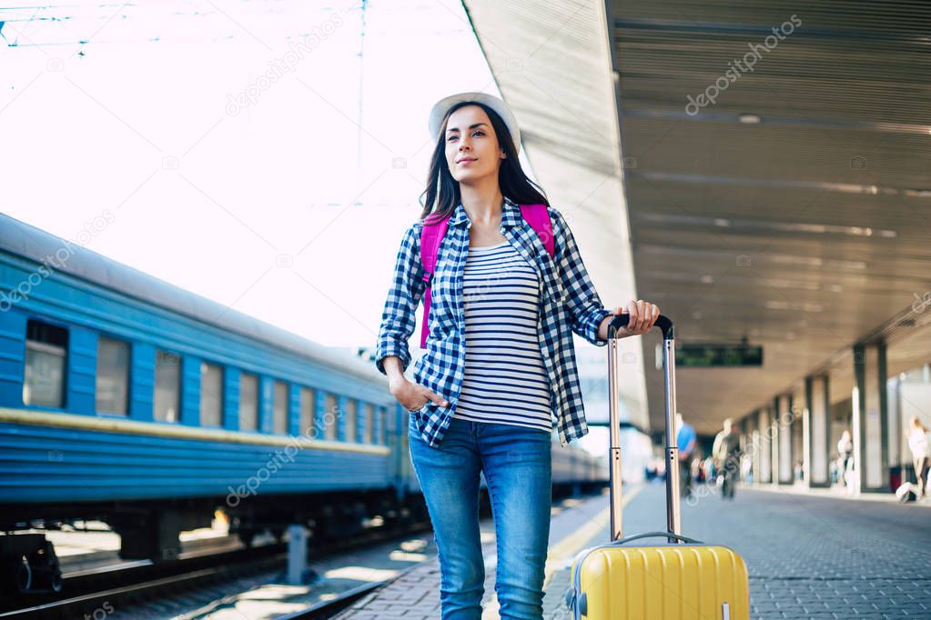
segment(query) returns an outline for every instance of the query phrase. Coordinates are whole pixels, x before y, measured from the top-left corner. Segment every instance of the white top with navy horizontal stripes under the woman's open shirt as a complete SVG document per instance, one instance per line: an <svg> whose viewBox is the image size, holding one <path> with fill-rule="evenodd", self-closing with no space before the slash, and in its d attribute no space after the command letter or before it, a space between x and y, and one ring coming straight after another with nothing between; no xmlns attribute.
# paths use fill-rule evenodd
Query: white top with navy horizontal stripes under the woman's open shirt
<svg viewBox="0 0 931 620"><path fill-rule="evenodd" d="M470 247L463 270L466 364L455 417L552 432L537 320L540 280L518 251Z"/></svg>

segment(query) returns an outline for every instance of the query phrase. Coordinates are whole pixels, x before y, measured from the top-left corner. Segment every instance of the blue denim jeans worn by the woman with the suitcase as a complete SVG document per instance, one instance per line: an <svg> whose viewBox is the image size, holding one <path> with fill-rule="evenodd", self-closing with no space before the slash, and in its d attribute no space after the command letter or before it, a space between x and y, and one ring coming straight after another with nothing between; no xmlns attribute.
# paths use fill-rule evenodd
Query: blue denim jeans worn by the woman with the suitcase
<svg viewBox="0 0 931 620"><path fill-rule="evenodd" d="M411 460L439 549L443 620L480 620L485 564L479 540L479 472L492 503L501 618L543 617L552 505L551 434L453 417L439 447L408 425Z"/></svg>

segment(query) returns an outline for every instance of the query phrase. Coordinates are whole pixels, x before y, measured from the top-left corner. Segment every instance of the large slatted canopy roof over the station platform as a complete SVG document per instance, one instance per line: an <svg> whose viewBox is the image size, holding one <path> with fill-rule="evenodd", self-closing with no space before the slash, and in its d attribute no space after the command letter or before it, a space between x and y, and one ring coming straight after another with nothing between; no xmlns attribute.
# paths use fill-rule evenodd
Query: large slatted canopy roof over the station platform
<svg viewBox="0 0 931 620"><path fill-rule="evenodd" d="M699 432L802 401L806 376L849 399L857 343L887 343L889 376L931 361L931 5L465 5L605 303L762 346L761 367L679 369ZM639 339L627 405L662 429Z"/></svg>

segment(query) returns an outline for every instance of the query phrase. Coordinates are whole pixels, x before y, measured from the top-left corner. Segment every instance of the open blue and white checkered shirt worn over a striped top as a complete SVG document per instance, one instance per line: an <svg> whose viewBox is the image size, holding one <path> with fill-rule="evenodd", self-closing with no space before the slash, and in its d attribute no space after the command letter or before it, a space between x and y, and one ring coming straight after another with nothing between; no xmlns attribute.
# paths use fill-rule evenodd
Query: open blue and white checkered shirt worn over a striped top
<svg viewBox="0 0 931 620"><path fill-rule="evenodd" d="M520 216L519 205L507 197L499 230L539 275L540 350L550 379L550 405L560 444L565 446L588 432L575 364L573 332L603 347L607 340L598 338L598 328L612 311L602 307L565 219L557 209L548 207L547 210L555 241L553 259L537 232ZM427 401L420 410L412 412L417 429L431 446L442 441L463 382L466 315L461 292L471 225L466 208L458 204L450 218L449 230L439 245L426 352L414 367L414 381L450 403L444 407ZM413 334L417 306L425 291L424 267L420 261L422 227L422 221L414 222L404 232L398 249L375 349L375 366L383 375L386 375L383 362L388 355L397 355L404 370L411 363L408 340Z"/></svg>

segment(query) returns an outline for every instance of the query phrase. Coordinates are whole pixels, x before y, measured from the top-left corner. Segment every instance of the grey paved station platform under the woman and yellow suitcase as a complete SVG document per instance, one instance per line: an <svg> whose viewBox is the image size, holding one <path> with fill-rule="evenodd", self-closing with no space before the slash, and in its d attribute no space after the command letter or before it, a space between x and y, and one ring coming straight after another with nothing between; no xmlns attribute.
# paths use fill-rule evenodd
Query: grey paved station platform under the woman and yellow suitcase
<svg viewBox="0 0 931 620"><path fill-rule="evenodd" d="M625 491L625 534L662 530L663 484ZM927 504L856 501L828 494L738 487L724 500L699 485L682 503L682 533L732 547L747 562L751 617L931 617L931 512ZM566 619L574 554L608 540L607 494L553 514L544 618ZM483 544L483 620L498 618L494 541ZM436 557L412 567L336 618L440 617Z"/></svg>

